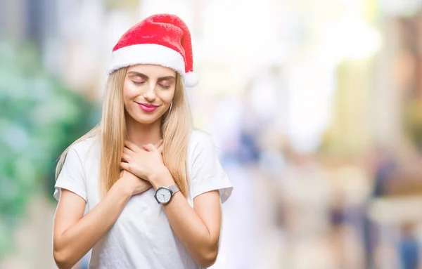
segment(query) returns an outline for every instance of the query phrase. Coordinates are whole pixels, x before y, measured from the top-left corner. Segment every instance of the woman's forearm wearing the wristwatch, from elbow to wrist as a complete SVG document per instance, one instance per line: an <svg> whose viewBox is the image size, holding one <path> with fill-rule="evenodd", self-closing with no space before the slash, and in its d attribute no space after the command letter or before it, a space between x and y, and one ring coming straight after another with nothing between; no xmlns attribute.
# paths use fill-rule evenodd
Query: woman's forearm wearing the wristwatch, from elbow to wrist
<svg viewBox="0 0 422 269"><path fill-rule="evenodd" d="M155 190L162 186L174 184L170 173L161 173L160 180L155 182L153 183ZM181 192L175 193L172 201L163 205L162 209L165 211L172 230L191 256L203 267L210 266L209 263L213 263L217 256L218 240L215 240L215 235L210 234L203 220L188 204Z"/></svg>

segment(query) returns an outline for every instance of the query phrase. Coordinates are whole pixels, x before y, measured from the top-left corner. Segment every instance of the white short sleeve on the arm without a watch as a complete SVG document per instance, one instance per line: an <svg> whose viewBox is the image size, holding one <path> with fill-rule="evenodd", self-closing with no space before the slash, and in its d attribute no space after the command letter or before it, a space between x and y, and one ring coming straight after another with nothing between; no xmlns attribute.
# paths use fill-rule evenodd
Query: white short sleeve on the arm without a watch
<svg viewBox="0 0 422 269"><path fill-rule="evenodd" d="M63 168L58 175L54 191L54 198L60 199L61 190L70 190L87 201L87 190L82 162L74 148L70 148L66 155Z"/></svg>

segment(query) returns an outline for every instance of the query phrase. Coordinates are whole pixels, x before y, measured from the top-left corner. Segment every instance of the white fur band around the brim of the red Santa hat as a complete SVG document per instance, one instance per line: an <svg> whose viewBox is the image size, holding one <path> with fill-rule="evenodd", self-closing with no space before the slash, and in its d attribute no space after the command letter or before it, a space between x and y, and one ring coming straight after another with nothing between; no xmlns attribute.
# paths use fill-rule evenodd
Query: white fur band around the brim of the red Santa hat
<svg viewBox="0 0 422 269"><path fill-rule="evenodd" d="M158 44L136 44L113 51L108 74L131 65L161 65L185 77L184 58L177 51ZM186 85L187 86L187 85Z"/></svg>

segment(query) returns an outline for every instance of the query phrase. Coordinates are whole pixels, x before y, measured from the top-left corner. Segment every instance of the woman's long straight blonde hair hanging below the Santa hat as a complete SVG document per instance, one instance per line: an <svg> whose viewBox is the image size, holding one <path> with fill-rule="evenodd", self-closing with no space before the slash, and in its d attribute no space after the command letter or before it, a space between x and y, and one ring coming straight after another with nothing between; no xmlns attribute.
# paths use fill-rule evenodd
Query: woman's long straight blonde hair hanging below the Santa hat
<svg viewBox="0 0 422 269"><path fill-rule="evenodd" d="M105 195L120 177L120 162L126 138L126 119L124 117L123 84L127 67L116 70L108 77L106 94L103 99L101 122L91 131L77 139L72 145L93 136L101 135L100 161L100 193ZM188 170L186 152L188 150L189 134L192 129L191 111L188 107L184 85L181 76L176 75L171 110L162 116L161 134L164 140L162 157L165 166L169 169L174 182L179 186L181 193L188 195ZM56 166L56 178L65 162L70 145L60 155Z"/></svg>

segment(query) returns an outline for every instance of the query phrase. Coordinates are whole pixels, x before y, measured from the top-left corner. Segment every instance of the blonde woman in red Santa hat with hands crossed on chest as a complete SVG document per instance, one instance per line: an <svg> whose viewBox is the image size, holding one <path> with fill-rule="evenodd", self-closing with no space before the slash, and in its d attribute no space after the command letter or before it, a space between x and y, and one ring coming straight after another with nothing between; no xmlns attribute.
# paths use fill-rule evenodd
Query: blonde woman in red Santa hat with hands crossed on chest
<svg viewBox="0 0 422 269"><path fill-rule="evenodd" d="M184 85L197 81L191 35L177 16L146 18L117 42L101 123L63 152L56 170L59 268L90 249L89 268L215 262L232 187L210 137L192 130Z"/></svg>

